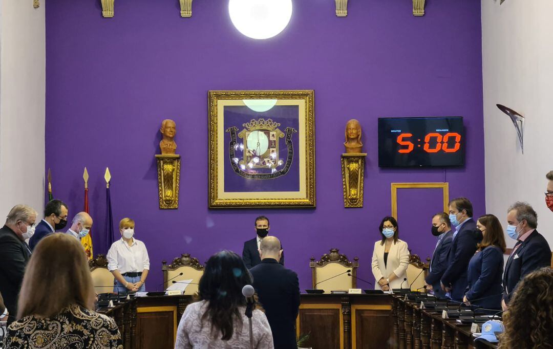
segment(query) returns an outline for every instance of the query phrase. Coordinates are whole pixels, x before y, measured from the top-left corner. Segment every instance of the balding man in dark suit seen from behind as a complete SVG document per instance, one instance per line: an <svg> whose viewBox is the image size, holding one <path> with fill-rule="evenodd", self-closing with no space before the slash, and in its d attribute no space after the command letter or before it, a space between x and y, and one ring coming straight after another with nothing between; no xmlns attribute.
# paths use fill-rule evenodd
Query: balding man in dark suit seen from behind
<svg viewBox="0 0 553 349"><path fill-rule="evenodd" d="M294 324L300 308L298 274L279 264L282 249L278 238L265 237L259 254L262 261L250 272L273 332L275 349L297 348Z"/></svg>

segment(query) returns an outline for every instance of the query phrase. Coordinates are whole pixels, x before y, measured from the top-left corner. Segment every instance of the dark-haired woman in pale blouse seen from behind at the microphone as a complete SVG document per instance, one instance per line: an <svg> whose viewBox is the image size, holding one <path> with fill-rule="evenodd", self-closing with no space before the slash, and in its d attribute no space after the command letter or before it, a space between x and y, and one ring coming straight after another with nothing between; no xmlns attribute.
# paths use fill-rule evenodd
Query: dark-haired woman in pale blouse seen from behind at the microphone
<svg viewBox="0 0 553 349"><path fill-rule="evenodd" d="M187 306L182 314L175 349L249 348L242 288L252 283L252 274L236 253L221 251L211 256L200 279L200 301ZM273 335L262 311L253 311L252 325L253 347L273 349Z"/></svg>

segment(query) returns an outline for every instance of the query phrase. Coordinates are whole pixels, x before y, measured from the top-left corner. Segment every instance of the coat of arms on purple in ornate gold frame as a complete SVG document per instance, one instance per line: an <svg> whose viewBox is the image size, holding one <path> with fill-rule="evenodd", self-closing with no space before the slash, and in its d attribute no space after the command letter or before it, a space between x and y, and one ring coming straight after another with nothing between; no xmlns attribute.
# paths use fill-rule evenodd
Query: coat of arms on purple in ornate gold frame
<svg viewBox="0 0 553 349"><path fill-rule="evenodd" d="M209 207L315 207L314 91L210 91Z"/></svg>

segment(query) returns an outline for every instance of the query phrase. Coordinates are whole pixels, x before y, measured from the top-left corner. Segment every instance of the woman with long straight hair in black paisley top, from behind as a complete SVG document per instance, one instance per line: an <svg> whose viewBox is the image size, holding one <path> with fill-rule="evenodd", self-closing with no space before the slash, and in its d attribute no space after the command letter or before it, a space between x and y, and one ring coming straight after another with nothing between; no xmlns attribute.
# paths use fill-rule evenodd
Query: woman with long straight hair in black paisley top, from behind
<svg viewBox="0 0 553 349"><path fill-rule="evenodd" d="M95 292L80 242L54 233L35 247L19 293L18 321L5 348L116 348L121 334L111 317L93 311Z"/></svg>

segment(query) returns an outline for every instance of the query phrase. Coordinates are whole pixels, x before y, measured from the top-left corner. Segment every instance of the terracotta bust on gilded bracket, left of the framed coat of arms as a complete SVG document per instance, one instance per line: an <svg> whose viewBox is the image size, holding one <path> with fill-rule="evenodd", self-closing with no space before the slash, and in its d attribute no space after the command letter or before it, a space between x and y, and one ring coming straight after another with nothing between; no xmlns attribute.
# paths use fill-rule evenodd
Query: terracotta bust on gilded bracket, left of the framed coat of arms
<svg viewBox="0 0 553 349"><path fill-rule="evenodd" d="M178 209L180 182L180 155L175 154L176 124L166 119L161 123L163 138L159 142L161 155L155 155L158 162L158 191L160 209Z"/></svg>

